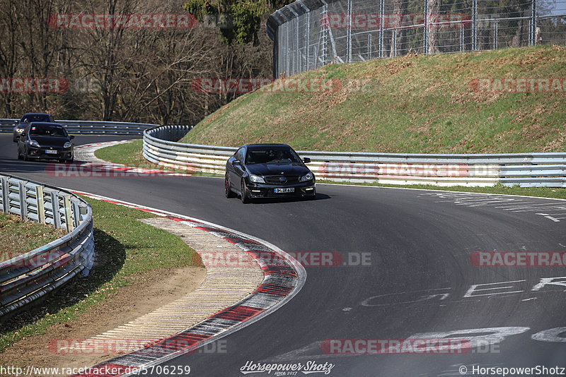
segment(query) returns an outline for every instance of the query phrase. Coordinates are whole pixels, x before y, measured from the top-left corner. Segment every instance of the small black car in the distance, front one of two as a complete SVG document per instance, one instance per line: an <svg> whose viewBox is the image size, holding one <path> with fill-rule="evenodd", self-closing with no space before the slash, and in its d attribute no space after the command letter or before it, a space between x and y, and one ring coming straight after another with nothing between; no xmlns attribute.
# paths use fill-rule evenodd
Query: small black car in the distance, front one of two
<svg viewBox="0 0 566 377"><path fill-rule="evenodd" d="M73 162L73 145L67 130L60 124L32 122L18 139L18 159L54 159Z"/></svg>

